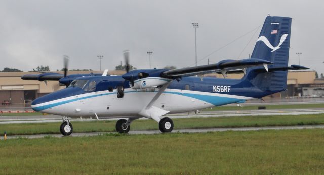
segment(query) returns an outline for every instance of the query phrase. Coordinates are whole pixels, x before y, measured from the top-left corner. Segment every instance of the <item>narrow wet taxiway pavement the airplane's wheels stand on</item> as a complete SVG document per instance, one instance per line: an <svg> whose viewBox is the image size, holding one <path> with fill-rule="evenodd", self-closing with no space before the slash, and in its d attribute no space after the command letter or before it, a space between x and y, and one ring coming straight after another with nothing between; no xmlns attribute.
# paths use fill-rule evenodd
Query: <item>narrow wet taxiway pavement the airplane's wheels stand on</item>
<svg viewBox="0 0 324 175"><path fill-rule="evenodd" d="M257 130L291 130L291 129L314 129L314 128L324 128L324 125L304 125L304 126L281 126L281 127L240 127L240 128L208 128L208 129L183 129L183 130L173 130L172 133L206 133L206 132L222 132L222 131L257 131ZM98 133L72 133L67 137L82 137L82 136L97 136L107 133L116 132L98 132ZM154 131L130 131L129 134L160 134L159 130ZM37 135L19 135L19 136L7 136L8 139L14 138L43 138L46 136L51 137L64 137L61 134L37 134ZM3 138L0 138L3 139Z"/></svg>

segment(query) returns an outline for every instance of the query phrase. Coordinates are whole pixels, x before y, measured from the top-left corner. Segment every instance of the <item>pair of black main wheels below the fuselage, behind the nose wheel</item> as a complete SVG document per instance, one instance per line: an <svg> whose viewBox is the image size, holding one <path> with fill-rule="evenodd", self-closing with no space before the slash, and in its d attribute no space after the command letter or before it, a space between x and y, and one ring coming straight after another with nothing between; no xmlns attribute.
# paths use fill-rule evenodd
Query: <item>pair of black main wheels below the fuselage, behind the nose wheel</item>
<svg viewBox="0 0 324 175"><path fill-rule="evenodd" d="M116 123L116 131L118 133L128 133L131 129L130 124L135 119L119 119ZM171 132L173 130L173 121L170 118L165 117L158 122L158 128L163 133Z"/></svg>

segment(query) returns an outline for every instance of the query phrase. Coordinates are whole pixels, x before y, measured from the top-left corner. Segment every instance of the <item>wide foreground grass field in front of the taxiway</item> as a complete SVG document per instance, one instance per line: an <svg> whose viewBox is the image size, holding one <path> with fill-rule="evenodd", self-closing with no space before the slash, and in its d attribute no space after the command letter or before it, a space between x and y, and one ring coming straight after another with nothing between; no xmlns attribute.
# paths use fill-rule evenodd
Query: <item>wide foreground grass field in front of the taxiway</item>
<svg viewBox="0 0 324 175"><path fill-rule="evenodd" d="M0 174L323 174L324 130L0 140Z"/></svg>

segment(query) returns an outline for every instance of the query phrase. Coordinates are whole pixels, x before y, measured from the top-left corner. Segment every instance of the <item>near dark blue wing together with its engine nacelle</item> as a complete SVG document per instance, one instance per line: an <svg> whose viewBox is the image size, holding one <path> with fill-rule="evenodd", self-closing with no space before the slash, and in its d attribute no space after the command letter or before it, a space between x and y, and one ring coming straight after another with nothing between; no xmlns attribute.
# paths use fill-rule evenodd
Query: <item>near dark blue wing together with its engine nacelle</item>
<svg viewBox="0 0 324 175"><path fill-rule="evenodd" d="M122 75L125 80L130 82L133 89L143 89L150 87L159 87L169 83L174 79L201 75L207 73L221 72L226 77L226 72L230 70L242 69L244 72L247 68L263 66L268 71L268 65L273 64L263 59L243 59L243 60L222 60L216 64L194 66L182 69L140 69L127 72Z"/></svg>

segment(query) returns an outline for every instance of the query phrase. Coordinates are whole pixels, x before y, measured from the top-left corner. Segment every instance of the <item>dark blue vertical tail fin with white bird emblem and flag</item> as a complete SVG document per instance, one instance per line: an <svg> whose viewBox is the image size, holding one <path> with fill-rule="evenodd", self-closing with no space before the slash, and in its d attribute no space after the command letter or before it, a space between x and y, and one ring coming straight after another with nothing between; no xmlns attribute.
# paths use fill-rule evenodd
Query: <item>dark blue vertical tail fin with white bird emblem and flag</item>
<svg viewBox="0 0 324 175"><path fill-rule="evenodd" d="M288 17L268 16L251 57L273 62L274 64L269 66L269 69L287 67L291 22L291 18ZM250 68L244 79L268 94L287 88L287 70L265 72L258 68Z"/></svg>

